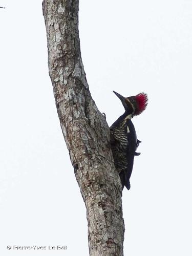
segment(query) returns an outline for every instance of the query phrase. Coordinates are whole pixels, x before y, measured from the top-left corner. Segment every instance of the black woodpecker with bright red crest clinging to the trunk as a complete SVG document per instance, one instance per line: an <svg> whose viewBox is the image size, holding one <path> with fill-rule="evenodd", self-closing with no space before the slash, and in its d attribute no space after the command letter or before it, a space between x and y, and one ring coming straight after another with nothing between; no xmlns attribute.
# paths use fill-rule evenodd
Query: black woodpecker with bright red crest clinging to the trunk
<svg viewBox="0 0 192 256"><path fill-rule="evenodd" d="M121 100L125 112L110 127L111 148L115 168L120 176L122 190L124 186L129 190L134 157L140 155L136 150L141 142L137 139L131 119L145 110L148 98L145 93L139 93L136 96L127 98L116 92L114 93Z"/></svg>

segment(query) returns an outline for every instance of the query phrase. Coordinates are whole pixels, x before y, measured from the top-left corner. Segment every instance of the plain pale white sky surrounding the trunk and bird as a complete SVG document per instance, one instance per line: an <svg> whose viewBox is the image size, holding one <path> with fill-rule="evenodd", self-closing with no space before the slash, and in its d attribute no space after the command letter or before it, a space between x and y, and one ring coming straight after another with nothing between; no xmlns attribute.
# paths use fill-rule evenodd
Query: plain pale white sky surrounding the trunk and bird
<svg viewBox="0 0 192 256"><path fill-rule="evenodd" d="M88 256L86 209L57 117L41 1L0 1L1 255ZM90 91L111 125L124 96L141 152L123 190L124 255L191 256L191 0L80 0ZM13 251L7 245L67 245Z"/></svg>

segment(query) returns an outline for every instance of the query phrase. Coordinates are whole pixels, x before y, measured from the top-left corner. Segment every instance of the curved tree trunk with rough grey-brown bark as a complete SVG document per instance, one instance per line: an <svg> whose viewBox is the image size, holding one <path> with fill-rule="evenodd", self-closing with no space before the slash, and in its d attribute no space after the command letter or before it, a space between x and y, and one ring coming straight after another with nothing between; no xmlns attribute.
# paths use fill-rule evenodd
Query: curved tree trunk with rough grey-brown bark
<svg viewBox="0 0 192 256"><path fill-rule="evenodd" d="M90 255L121 256L121 184L114 167L109 126L91 97L82 65L78 8L78 0L42 3L49 75L62 133L87 209Z"/></svg>

